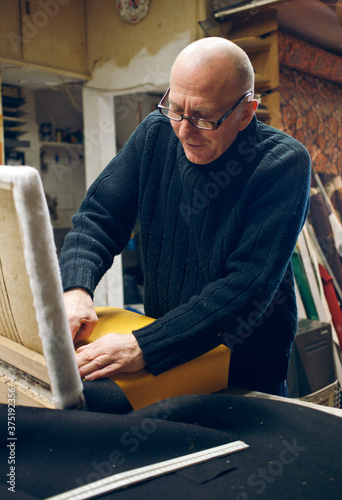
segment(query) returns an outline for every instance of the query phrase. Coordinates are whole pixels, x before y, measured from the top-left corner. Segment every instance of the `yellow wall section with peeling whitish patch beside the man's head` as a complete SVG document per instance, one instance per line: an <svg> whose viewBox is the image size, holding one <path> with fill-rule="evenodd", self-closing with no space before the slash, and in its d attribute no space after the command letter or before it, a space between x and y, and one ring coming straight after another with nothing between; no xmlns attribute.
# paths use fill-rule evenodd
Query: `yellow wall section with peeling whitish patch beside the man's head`
<svg viewBox="0 0 342 500"><path fill-rule="evenodd" d="M203 36L204 0L151 0L137 24L121 19L115 0L87 0L87 86L113 94L164 88L171 65L190 42Z"/></svg>

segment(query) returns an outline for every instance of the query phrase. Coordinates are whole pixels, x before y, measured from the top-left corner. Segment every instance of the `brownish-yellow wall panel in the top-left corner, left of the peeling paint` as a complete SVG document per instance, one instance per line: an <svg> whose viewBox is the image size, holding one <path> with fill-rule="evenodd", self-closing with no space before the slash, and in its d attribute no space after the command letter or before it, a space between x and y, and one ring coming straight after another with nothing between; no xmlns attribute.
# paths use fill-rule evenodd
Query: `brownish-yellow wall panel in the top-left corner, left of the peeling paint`
<svg viewBox="0 0 342 500"><path fill-rule="evenodd" d="M85 0L0 0L0 17L4 61L86 77Z"/></svg>

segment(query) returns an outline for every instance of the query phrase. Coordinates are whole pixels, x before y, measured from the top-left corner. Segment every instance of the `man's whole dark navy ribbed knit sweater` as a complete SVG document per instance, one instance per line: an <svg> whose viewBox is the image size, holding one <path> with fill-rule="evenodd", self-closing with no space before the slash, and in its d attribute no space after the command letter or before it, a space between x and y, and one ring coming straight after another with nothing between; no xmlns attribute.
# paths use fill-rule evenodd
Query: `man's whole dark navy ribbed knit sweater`
<svg viewBox="0 0 342 500"><path fill-rule="evenodd" d="M226 343L230 384L287 375L297 309L291 255L305 221L304 146L253 118L207 165L152 113L90 187L60 257L64 290L93 293L139 217L145 313L134 332L153 374Z"/></svg>

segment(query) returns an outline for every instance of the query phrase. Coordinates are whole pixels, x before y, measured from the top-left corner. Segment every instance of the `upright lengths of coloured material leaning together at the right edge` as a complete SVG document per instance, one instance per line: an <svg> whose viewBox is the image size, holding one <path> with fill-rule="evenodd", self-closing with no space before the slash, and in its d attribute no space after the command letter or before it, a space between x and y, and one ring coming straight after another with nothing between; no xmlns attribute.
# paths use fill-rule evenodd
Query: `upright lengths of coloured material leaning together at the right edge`
<svg viewBox="0 0 342 500"><path fill-rule="evenodd" d="M329 323L342 386L342 181L314 174L310 213L292 257L299 318Z"/></svg>

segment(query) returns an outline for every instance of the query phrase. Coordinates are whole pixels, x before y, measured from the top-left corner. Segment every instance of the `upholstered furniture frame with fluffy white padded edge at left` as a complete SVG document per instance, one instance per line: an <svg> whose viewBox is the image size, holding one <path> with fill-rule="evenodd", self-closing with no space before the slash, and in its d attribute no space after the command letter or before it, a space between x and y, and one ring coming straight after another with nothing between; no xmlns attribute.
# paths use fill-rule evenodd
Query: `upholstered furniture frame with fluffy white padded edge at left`
<svg viewBox="0 0 342 500"><path fill-rule="evenodd" d="M53 231L36 169L0 167L0 214L0 402L7 402L11 385L19 405L82 406Z"/></svg>

